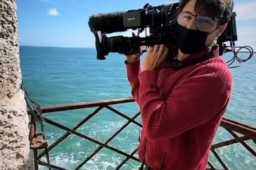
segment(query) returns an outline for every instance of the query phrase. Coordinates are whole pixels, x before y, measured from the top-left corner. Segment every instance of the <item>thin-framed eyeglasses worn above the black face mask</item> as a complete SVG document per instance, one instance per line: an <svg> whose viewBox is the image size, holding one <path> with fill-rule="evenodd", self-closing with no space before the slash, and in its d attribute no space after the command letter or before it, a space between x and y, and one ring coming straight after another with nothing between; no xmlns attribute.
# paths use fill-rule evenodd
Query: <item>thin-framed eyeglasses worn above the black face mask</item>
<svg viewBox="0 0 256 170"><path fill-rule="evenodd" d="M177 21L181 26L187 26L192 18L195 17L196 28L200 31L210 31L217 26L218 19L207 15L193 15L190 12L179 12Z"/></svg>

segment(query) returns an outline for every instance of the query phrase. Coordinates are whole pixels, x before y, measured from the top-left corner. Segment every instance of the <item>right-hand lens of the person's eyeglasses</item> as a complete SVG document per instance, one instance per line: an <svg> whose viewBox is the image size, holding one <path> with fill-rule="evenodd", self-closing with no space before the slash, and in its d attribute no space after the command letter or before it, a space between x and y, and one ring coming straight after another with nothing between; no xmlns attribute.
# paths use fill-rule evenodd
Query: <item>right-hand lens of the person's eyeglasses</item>
<svg viewBox="0 0 256 170"><path fill-rule="evenodd" d="M196 25L199 30L207 31L214 27L214 20L211 17L198 15L196 16Z"/></svg>

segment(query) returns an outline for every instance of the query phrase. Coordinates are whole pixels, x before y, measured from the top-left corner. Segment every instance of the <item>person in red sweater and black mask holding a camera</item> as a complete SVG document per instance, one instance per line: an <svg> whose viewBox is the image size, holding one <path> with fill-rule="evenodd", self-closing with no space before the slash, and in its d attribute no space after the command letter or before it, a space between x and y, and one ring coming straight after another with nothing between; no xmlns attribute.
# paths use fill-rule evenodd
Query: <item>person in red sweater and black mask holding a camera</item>
<svg viewBox="0 0 256 170"><path fill-rule="evenodd" d="M127 55L127 77L141 111L138 146L148 170L204 170L232 90L232 74L217 38L232 14L232 0L181 0L177 46L152 46ZM173 67L173 63L178 67Z"/></svg>

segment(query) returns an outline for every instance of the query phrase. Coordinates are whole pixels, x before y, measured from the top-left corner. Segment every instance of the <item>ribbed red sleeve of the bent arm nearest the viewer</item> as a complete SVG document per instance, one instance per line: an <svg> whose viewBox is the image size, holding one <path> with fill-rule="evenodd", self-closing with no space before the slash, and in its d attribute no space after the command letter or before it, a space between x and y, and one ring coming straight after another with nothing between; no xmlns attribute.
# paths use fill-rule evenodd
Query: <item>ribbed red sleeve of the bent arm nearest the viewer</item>
<svg viewBox="0 0 256 170"><path fill-rule="evenodd" d="M156 71L139 74L138 104L147 138L173 138L207 123L226 106L232 76L225 65L210 63L195 72L179 82L166 100L160 96Z"/></svg>

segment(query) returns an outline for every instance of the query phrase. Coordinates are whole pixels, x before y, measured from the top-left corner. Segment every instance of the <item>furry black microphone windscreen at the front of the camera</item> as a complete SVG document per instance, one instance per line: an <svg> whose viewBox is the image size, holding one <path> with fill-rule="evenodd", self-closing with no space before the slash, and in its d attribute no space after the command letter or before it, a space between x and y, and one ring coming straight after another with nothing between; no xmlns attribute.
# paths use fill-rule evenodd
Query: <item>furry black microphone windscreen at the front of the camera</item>
<svg viewBox="0 0 256 170"><path fill-rule="evenodd" d="M124 12L100 13L89 18L89 27L92 32L101 31L105 34L123 32L127 29L123 24Z"/></svg>

